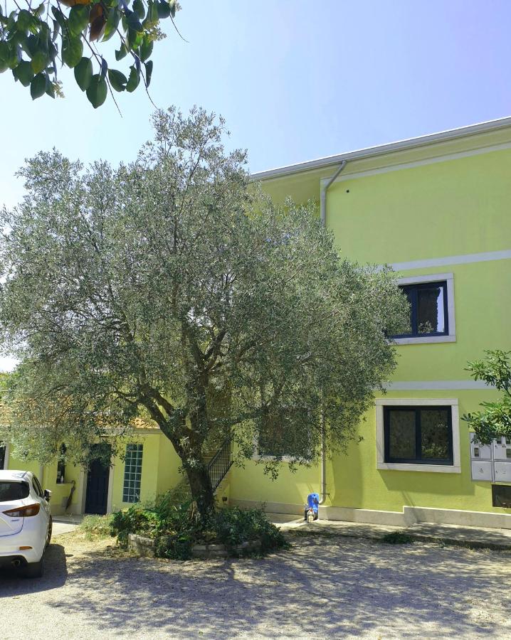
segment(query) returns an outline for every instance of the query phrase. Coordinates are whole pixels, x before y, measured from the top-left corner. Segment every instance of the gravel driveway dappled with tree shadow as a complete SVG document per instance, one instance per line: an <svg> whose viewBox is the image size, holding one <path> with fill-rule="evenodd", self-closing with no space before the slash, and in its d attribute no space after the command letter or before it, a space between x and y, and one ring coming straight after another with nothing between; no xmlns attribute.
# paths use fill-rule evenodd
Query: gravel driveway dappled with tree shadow
<svg viewBox="0 0 511 640"><path fill-rule="evenodd" d="M3 640L510 638L511 554L297 538L265 559L118 557L56 537L46 577L0 574Z"/></svg>

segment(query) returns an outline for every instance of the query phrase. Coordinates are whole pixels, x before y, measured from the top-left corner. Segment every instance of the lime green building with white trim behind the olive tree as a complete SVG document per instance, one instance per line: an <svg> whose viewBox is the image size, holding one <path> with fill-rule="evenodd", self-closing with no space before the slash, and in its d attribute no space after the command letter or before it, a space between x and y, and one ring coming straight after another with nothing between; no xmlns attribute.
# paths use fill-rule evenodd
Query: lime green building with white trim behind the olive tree
<svg viewBox="0 0 511 640"><path fill-rule="evenodd" d="M411 320L394 336L398 366L360 424L362 442L295 474L283 464L276 481L255 460L231 466L218 487L224 501L299 514L317 491L322 518L511 528L511 443L479 447L461 420L497 397L470 379L467 361L485 349L511 349L511 118L253 179L275 201L316 201L349 260L391 265ZM137 442L98 485L106 511L179 482L177 455L158 430L141 430ZM4 453L4 464L14 468ZM65 469L62 489L52 486L56 468L39 473L62 494L56 513L73 481L70 511L87 511L90 479L83 471Z"/></svg>

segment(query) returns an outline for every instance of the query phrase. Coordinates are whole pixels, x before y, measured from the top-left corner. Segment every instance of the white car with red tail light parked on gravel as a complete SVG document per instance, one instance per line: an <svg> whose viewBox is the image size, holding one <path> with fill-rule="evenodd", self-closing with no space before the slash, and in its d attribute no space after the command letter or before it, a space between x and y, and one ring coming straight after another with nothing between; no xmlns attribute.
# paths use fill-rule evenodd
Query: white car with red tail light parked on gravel
<svg viewBox="0 0 511 640"><path fill-rule="evenodd" d="M31 471L0 471L0 568L26 567L25 575L43 575L50 498Z"/></svg>

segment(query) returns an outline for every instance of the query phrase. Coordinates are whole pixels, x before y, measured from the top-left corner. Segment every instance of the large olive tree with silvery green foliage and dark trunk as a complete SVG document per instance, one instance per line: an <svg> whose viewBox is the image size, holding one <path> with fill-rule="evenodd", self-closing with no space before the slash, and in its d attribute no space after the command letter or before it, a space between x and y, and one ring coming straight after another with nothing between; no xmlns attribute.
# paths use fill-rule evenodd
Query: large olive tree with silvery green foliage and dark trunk
<svg viewBox="0 0 511 640"><path fill-rule="evenodd" d="M0 245L1 340L21 360L4 424L41 458L150 418L206 511L205 457L226 437L251 457L263 432L275 473L285 452L317 457L323 422L332 450L354 436L406 303L389 270L339 257L314 203L251 185L222 119L153 124L132 164L53 151L20 171Z"/></svg>

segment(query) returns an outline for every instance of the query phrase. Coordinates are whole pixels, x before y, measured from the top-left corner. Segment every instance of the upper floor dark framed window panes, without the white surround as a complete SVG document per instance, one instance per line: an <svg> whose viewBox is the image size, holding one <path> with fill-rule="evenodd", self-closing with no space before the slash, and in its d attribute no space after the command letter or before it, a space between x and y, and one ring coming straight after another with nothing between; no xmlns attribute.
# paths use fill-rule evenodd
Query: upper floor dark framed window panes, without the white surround
<svg viewBox="0 0 511 640"><path fill-rule="evenodd" d="M409 323L393 338L448 336L447 282L421 282L399 287L410 304Z"/></svg>

